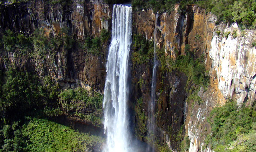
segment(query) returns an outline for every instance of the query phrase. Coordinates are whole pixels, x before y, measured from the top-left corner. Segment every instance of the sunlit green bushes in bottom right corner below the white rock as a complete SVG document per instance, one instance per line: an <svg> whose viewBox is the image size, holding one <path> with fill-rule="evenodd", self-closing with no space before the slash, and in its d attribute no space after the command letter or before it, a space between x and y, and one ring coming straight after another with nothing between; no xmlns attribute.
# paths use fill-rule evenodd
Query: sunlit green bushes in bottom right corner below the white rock
<svg viewBox="0 0 256 152"><path fill-rule="evenodd" d="M215 107L208 117L211 134L205 140L214 151L255 151L255 106L238 108L230 100L222 107Z"/></svg>

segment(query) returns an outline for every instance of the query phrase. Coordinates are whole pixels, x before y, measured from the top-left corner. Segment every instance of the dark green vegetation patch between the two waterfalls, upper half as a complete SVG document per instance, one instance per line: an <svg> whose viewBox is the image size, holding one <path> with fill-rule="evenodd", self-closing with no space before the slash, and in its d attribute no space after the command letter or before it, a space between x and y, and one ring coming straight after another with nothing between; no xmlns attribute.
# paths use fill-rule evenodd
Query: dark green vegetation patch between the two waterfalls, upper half
<svg viewBox="0 0 256 152"><path fill-rule="evenodd" d="M145 64L154 57L154 42L147 41L142 35L133 36L132 60L137 64Z"/></svg>

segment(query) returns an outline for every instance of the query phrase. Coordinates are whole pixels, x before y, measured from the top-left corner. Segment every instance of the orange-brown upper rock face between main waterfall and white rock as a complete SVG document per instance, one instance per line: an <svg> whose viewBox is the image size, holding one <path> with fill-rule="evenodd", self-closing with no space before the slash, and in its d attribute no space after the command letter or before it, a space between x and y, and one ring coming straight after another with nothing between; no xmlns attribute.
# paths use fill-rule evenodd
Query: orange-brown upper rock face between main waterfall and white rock
<svg viewBox="0 0 256 152"><path fill-rule="evenodd" d="M175 58L174 50L184 53L185 44L199 54L209 52L215 18L197 6L188 6L185 14L175 11L163 13L159 16L158 46L165 46L166 53ZM148 40L153 39L155 14L152 10L141 11L134 14L134 33L143 34ZM196 37L196 40L195 40Z"/></svg>

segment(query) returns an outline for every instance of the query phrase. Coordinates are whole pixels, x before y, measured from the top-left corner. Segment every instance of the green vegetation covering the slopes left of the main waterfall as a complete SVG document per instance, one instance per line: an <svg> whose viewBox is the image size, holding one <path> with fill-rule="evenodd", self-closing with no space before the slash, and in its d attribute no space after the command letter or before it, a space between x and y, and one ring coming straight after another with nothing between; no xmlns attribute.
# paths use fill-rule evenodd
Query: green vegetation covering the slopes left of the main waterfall
<svg viewBox="0 0 256 152"><path fill-rule="evenodd" d="M99 39L101 47L109 37L109 32L102 30L95 39ZM54 62L57 52L81 49L78 48L81 42L74 39L70 29L64 27L55 36L43 29L36 29L32 36L6 30L0 38L6 65L6 69L0 70L0 151L82 151L101 144L100 137L45 120L68 115L101 125L103 96L100 93L84 88L61 90L51 76L40 79L33 69L17 68L17 63L6 57L7 52L12 52L20 61L26 57L26 61ZM43 76L44 72L40 74Z"/></svg>

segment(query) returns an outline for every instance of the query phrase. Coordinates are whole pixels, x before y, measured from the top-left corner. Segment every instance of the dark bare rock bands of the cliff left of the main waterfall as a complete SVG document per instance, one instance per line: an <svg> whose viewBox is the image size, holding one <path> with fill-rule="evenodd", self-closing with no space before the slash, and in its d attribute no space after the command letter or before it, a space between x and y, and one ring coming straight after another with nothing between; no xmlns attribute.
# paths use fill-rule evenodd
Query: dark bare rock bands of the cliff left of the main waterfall
<svg viewBox="0 0 256 152"><path fill-rule="evenodd" d="M110 30L111 9L101 1L72 1L52 4L50 1L29 1L13 3L0 8L0 29L6 29L31 35L35 29L42 28L45 36L56 36L60 29L67 27L74 39L83 41L85 37L96 37L102 29ZM107 51L107 45L102 52ZM40 76L49 74L64 87L90 86L103 92L105 82L105 55L88 54L81 47L72 49L59 48L54 55L47 55L46 60L28 56L17 56L9 52L1 55L2 69L7 62L4 56L19 68L35 69ZM103 54L104 54L103 53ZM5 58L6 58L5 57ZM29 62L29 64L28 64Z"/></svg>

